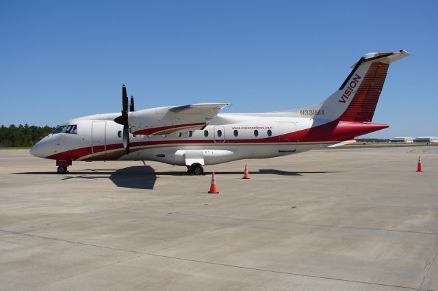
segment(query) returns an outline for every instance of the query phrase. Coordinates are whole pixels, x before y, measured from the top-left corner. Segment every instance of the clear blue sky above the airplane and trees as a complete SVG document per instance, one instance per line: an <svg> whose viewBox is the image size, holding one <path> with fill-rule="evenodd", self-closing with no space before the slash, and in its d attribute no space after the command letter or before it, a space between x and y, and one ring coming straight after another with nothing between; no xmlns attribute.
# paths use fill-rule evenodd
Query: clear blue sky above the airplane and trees
<svg viewBox="0 0 438 291"><path fill-rule="evenodd" d="M389 68L371 137L438 135L438 1L0 1L0 124L230 102L294 109L332 94L365 53Z"/></svg>

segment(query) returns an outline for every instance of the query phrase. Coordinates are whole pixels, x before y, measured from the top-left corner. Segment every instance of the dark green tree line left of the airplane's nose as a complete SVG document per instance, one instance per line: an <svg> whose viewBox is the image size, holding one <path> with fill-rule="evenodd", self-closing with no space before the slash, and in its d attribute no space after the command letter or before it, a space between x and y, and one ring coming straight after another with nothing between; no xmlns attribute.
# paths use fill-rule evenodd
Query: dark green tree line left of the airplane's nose
<svg viewBox="0 0 438 291"><path fill-rule="evenodd" d="M34 146L34 144L49 135L54 127L50 126L29 126L28 124L20 124L15 126L11 124L9 127L0 126L0 147L1 148L11 148L11 147L29 147Z"/></svg>

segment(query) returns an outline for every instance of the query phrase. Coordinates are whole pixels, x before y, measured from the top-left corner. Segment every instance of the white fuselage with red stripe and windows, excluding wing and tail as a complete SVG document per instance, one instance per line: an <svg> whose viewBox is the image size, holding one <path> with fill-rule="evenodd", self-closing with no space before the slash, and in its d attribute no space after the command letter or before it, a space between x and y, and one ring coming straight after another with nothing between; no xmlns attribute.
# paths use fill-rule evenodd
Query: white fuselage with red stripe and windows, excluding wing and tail
<svg viewBox="0 0 438 291"><path fill-rule="evenodd" d="M123 149L118 113L70 120L77 133L44 137L32 154L73 161L158 161L171 165L214 165L242 158L272 158L305 152L339 141L300 142L287 134L311 128L318 120L257 114L219 114L203 130L170 135L130 135L131 152ZM283 137L283 138L282 138Z"/></svg>

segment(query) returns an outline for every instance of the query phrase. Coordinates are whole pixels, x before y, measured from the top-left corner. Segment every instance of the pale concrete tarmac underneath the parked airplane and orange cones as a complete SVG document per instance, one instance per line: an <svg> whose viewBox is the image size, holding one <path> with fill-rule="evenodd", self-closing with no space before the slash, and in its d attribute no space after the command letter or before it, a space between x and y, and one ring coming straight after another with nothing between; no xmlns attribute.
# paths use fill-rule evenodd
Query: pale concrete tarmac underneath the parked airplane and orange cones
<svg viewBox="0 0 438 291"><path fill-rule="evenodd" d="M0 150L0 290L438 290L436 146L55 170Z"/></svg>

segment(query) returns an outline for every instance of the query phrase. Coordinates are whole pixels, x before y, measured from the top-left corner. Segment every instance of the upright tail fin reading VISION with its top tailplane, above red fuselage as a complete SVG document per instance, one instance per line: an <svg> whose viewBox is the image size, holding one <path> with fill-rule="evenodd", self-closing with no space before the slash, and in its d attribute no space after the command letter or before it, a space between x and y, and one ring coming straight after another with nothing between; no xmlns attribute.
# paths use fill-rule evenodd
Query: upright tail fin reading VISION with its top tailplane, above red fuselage
<svg viewBox="0 0 438 291"><path fill-rule="evenodd" d="M403 50L363 55L335 93L318 105L301 108L294 113L300 117L323 120L372 122L389 64L408 55Z"/></svg>

